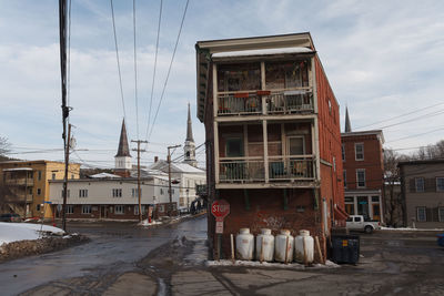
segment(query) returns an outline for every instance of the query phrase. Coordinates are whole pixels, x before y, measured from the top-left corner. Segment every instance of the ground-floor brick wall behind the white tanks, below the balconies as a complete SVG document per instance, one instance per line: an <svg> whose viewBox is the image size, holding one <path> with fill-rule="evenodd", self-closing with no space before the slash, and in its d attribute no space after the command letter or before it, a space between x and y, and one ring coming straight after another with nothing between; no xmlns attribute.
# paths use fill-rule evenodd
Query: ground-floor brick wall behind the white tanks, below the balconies
<svg viewBox="0 0 444 296"><path fill-rule="evenodd" d="M221 190L220 197L229 202L230 215L224 220L222 235L222 256L230 258L230 234L234 236L240 228L250 228L258 235L261 228L271 228L276 235L281 229L290 229L292 235L299 235L301 229L309 229L311 235L322 239L321 212L314 210L313 190L286 190L287 210L284 210L284 190L249 190L250 210L246 208L243 190ZM303 208L304 212L299 212ZM211 215L211 214L210 214ZM209 220L214 221L211 216ZM209 232L214 229L209 229ZM216 237L214 246L216 246ZM325 254L324 254L325 255Z"/></svg>

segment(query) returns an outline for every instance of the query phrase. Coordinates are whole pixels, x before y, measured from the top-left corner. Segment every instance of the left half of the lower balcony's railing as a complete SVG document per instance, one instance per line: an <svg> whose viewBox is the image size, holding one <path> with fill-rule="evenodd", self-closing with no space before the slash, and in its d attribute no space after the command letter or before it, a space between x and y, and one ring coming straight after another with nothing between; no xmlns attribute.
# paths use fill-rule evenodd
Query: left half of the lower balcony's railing
<svg viewBox="0 0 444 296"><path fill-rule="evenodd" d="M264 162L260 157L221 159L219 178L224 183L264 182Z"/></svg>

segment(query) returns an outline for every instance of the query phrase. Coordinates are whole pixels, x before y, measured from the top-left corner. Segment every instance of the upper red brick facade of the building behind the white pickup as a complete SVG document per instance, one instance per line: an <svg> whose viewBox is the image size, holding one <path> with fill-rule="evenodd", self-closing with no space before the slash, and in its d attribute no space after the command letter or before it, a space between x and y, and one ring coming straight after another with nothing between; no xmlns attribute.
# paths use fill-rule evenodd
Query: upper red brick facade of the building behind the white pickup
<svg viewBox="0 0 444 296"><path fill-rule="evenodd" d="M376 134L343 136L342 143L345 149L344 170L346 170L347 190L356 188L356 170L365 169L365 188L383 190L384 163L382 145ZM364 144L364 160L355 160L355 143Z"/></svg>

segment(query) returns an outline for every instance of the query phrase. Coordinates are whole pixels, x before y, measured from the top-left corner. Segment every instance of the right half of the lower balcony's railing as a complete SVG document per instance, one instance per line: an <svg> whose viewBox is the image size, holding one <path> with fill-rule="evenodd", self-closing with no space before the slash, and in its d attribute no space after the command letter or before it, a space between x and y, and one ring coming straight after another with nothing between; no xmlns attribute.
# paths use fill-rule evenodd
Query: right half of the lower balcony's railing
<svg viewBox="0 0 444 296"><path fill-rule="evenodd" d="M315 177L312 155L270 156L269 159L270 181L312 181Z"/></svg>

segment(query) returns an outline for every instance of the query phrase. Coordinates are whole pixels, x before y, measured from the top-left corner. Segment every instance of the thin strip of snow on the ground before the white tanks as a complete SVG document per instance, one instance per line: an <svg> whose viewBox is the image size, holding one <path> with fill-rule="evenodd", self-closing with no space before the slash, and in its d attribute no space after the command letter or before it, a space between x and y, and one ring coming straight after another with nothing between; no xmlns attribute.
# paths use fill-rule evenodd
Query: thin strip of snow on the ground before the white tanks
<svg viewBox="0 0 444 296"><path fill-rule="evenodd" d="M341 267L340 265L326 261L325 265L323 264L313 264L312 267L305 267L303 264L299 263L289 263L289 264L283 264L283 263L269 263L269 262L263 262L260 263L258 261L235 261L234 263L232 261L206 261L205 262L206 266L249 266L249 267L272 267L272 268L291 268L291 269L321 269L321 268L337 268Z"/></svg>

